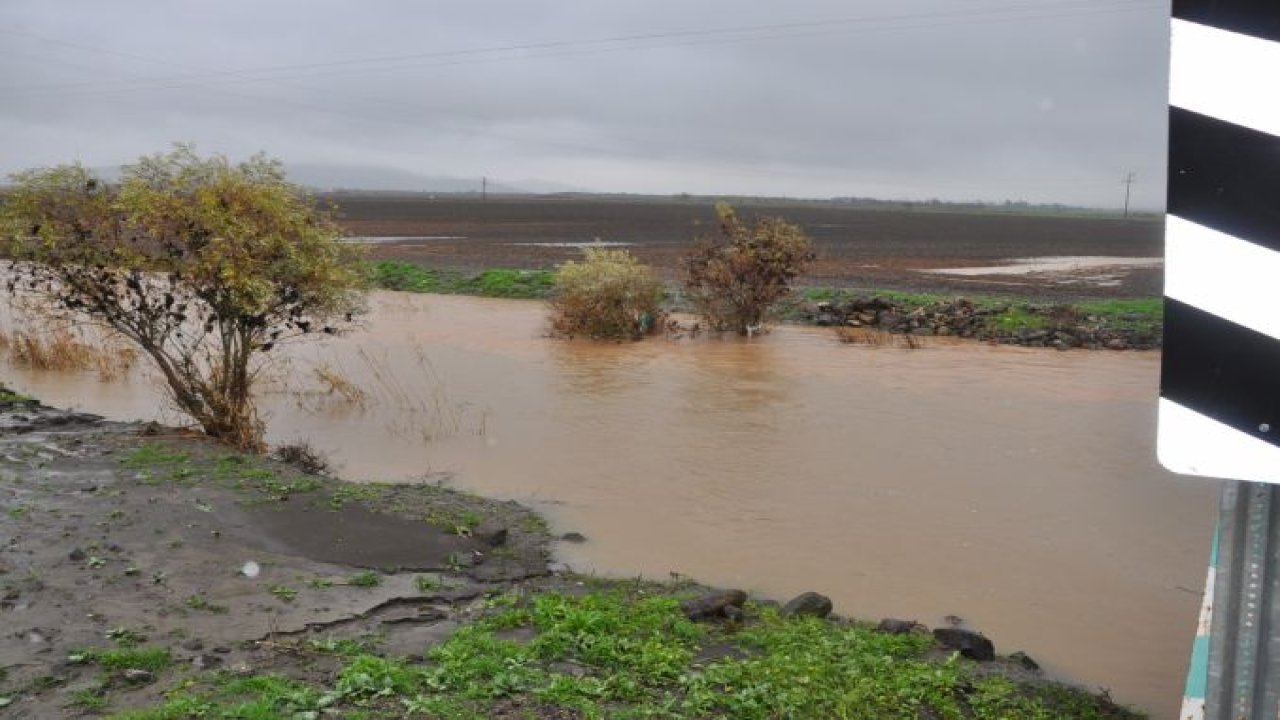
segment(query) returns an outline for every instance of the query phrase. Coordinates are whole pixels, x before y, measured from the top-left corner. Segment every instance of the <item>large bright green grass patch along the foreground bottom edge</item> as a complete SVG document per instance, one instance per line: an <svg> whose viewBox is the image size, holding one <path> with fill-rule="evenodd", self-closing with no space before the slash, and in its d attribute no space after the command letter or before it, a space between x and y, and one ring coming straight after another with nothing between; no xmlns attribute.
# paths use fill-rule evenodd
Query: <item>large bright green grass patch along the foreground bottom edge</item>
<svg viewBox="0 0 1280 720"><path fill-rule="evenodd" d="M324 685L216 674L170 693L160 707L116 717L480 719L504 698L623 719L1138 717L1079 691L983 678L957 656L934 660L928 634L888 635L858 624L786 619L758 606L749 611L753 620L726 634L685 619L677 598L639 589L508 593L431 648L425 662L332 641L312 648L346 657ZM728 652L698 662L712 644Z"/></svg>

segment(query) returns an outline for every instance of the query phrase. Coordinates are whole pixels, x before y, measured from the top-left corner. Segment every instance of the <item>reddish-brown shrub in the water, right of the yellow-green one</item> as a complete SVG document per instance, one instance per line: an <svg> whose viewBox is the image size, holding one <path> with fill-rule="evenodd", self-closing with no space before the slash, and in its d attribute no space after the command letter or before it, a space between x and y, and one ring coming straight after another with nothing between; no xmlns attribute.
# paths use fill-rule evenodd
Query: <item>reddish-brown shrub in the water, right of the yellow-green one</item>
<svg viewBox="0 0 1280 720"><path fill-rule="evenodd" d="M745 223L727 202L716 214L719 232L699 238L684 258L685 292L712 329L750 334L813 261L813 241L782 218Z"/></svg>

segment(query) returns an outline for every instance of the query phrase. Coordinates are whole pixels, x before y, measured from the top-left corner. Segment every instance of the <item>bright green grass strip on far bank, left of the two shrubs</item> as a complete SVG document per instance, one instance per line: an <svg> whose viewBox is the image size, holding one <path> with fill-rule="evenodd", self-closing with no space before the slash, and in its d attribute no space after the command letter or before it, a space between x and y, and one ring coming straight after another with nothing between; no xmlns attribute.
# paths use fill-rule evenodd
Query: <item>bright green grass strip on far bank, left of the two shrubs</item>
<svg viewBox="0 0 1280 720"><path fill-rule="evenodd" d="M548 297L554 286L550 270L490 269L468 274L434 270L401 260L380 260L370 265L374 286L406 292L480 295L484 297Z"/></svg>

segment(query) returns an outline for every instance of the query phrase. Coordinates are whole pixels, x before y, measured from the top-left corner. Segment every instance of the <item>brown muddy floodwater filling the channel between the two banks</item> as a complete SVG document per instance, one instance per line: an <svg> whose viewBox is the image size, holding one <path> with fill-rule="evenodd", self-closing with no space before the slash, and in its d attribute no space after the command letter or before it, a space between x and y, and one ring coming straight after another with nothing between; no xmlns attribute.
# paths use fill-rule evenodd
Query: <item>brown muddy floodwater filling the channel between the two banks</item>
<svg viewBox="0 0 1280 720"><path fill-rule="evenodd" d="M365 332L278 364L271 441L353 479L449 474L530 502L588 536L558 550L579 570L959 615L1055 676L1176 711L1216 488L1156 465L1158 355L543 328L535 302L379 293ZM0 370L49 404L175 419L137 379Z"/></svg>

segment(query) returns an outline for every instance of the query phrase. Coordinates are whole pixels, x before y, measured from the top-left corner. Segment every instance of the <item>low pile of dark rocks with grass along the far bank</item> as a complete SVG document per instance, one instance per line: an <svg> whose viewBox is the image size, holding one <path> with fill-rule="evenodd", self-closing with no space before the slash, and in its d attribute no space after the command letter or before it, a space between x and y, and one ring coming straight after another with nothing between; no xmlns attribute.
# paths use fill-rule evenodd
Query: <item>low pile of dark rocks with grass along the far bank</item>
<svg viewBox="0 0 1280 720"><path fill-rule="evenodd" d="M1111 327L1103 319L1064 305L1019 307L1036 318L1023 327L1005 328L1000 319L1007 305L977 305L964 297L932 305L904 305L884 297L854 297L838 302L814 302L800 318L817 325L870 328L914 336L966 337L1002 345L1070 350L1149 350L1160 347L1158 331ZM1134 318L1138 319L1138 318Z"/></svg>

